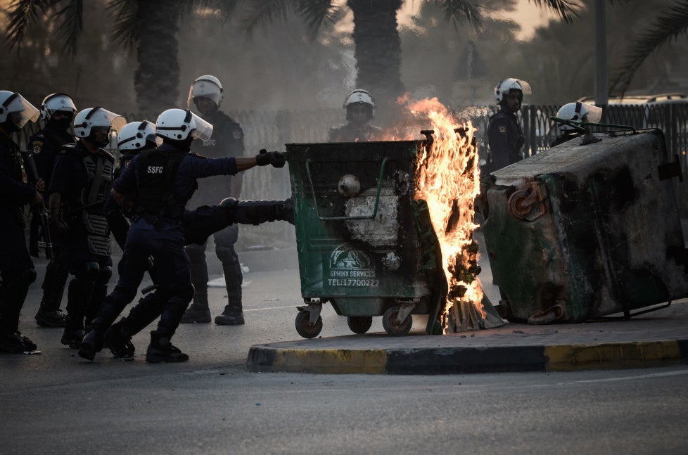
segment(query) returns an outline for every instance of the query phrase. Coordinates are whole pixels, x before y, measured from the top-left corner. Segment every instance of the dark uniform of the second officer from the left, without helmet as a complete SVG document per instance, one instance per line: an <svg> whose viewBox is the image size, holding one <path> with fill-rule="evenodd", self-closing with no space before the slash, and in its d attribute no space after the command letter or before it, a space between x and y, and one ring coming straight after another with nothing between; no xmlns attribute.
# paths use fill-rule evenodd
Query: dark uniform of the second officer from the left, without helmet
<svg viewBox="0 0 688 455"><path fill-rule="evenodd" d="M74 137L65 129L60 129L48 124L46 127L29 139L27 149L32 150L34 162L38 175L45 182L47 191L50 188L50 181L53 175L55 160L60 153L60 148L67 143L74 142ZM34 210L31 219L31 236L37 238L38 224L40 222L39 213ZM30 241L32 245L32 241ZM60 309L62 295L65 291L65 283L69 277L69 264L67 263L65 252L53 247L53 259L46 267L46 275L43 280L43 298L41 307L36 314L36 321L44 327L64 327L64 316Z"/></svg>

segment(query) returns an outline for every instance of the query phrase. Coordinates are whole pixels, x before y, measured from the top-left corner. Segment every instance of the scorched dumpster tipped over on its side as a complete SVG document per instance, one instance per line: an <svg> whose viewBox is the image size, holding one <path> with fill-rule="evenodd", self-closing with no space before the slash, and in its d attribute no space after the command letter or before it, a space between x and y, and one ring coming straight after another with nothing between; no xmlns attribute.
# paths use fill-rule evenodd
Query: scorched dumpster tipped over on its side
<svg viewBox="0 0 688 455"><path fill-rule="evenodd" d="M483 232L500 312L580 322L685 297L673 178L678 157L656 129L587 135L492 172Z"/></svg>

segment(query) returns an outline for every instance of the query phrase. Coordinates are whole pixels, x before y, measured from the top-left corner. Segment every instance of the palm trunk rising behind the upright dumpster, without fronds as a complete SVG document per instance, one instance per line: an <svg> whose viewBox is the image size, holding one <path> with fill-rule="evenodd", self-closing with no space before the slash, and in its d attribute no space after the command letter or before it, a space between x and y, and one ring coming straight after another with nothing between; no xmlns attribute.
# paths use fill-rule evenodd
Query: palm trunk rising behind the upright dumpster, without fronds
<svg viewBox="0 0 688 455"><path fill-rule="evenodd" d="M356 85L381 107L404 93L397 11L402 0L348 0L354 13Z"/></svg>

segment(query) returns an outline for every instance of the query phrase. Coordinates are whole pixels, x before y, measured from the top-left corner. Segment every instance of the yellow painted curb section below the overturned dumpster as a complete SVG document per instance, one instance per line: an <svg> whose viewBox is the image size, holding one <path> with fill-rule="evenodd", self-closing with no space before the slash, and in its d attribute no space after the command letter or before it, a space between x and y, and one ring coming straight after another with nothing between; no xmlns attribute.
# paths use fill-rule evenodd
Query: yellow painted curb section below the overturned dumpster
<svg viewBox="0 0 688 455"><path fill-rule="evenodd" d="M599 345L546 346L548 371L640 368L668 361L678 363L681 350L676 341L647 341Z"/></svg>

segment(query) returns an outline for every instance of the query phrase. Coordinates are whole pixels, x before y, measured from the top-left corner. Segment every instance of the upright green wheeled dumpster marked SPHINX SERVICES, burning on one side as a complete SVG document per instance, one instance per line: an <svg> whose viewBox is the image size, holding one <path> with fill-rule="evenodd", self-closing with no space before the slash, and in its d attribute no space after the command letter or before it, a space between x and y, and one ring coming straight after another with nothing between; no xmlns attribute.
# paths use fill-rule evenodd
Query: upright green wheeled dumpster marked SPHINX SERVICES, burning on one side
<svg viewBox="0 0 688 455"><path fill-rule="evenodd" d="M447 299L458 301L475 287L477 246L472 255L461 253L461 248L452 252L469 257L468 265L454 266L452 273L473 274L472 279L463 278L470 283L452 289L428 201L419 198L419 160L428 158L436 142L430 133L426 140L415 141L287 144L306 304L299 307L296 329L303 337L320 333L325 302L348 317L354 333L365 333L373 316L383 316L387 333L404 335L412 326L412 314L428 314L426 331L440 333L445 325L440 312ZM452 130L451 135L457 133ZM458 156L447 159L459 161ZM474 172L477 160L461 159ZM447 224L456 226L466 218L472 223L472 205L471 212L463 214L454 205L455 200L444 202ZM441 233L445 231L450 228ZM485 319L492 317L490 321L501 325L491 305L490 316L485 316L481 298L482 293L473 297L476 324L485 326Z"/></svg>

